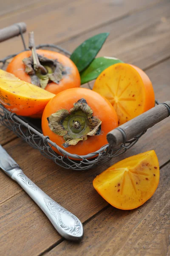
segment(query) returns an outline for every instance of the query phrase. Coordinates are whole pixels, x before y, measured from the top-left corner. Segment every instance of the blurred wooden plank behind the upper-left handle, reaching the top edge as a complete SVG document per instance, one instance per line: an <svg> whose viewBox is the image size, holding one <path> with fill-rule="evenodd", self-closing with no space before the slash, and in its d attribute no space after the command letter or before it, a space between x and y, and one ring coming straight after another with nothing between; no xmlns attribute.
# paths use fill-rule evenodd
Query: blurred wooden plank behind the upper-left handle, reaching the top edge
<svg viewBox="0 0 170 256"><path fill-rule="evenodd" d="M136 5L136 0L67 0L63 6L59 6L58 1L46 2L46 5L26 8L12 16L2 17L1 27L24 20L28 31L34 30L36 44L61 42L158 2L160 0L143 0ZM25 38L28 44L28 33ZM18 38L2 43L1 58L21 49L23 46Z"/></svg>

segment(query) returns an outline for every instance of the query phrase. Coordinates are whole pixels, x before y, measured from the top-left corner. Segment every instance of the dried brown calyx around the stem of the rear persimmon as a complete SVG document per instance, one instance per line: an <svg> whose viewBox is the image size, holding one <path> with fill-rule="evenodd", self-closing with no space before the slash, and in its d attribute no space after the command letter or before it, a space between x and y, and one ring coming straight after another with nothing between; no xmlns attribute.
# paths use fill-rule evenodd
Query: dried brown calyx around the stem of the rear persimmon
<svg viewBox="0 0 170 256"><path fill-rule="evenodd" d="M42 89L45 89L49 81L59 84L64 71L62 64L57 60L49 59L39 54L37 56L40 64L47 70L47 73L44 75L40 69L34 69L32 55L28 58L24 58L23 63L26 67L25 72L31 77L31 83L41 87Z"/></svg>

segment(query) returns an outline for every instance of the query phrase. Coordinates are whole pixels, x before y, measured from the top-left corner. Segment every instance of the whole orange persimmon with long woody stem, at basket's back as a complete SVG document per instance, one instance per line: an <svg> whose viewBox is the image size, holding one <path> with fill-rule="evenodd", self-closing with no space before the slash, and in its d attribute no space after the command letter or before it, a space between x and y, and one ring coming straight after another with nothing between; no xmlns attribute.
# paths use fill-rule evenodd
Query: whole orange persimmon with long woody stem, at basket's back
<svg viewBox="0 0 170 256"><path fill-rule="evenodd" d="M16 55L6 71L54 94L80 86L79 71L70 58L59 52L36 50L34 32L29 33L29 47L31 51Z"/></svg>

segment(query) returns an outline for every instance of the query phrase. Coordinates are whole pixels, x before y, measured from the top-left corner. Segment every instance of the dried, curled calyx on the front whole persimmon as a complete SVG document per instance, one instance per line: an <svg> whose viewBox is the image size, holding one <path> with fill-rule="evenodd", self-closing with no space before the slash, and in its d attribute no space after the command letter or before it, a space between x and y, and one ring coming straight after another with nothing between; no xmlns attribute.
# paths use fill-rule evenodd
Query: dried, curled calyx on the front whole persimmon
<svg viewBox="0 0 170 256"><path fill-rule="evenodd" d="M51 131L63 136L65 148L76 145L80 140L87 140L88 136L99 135L102 121L93 116L93 111L85 99L79 99L69 111L60 109L48 118Z"/></svg>

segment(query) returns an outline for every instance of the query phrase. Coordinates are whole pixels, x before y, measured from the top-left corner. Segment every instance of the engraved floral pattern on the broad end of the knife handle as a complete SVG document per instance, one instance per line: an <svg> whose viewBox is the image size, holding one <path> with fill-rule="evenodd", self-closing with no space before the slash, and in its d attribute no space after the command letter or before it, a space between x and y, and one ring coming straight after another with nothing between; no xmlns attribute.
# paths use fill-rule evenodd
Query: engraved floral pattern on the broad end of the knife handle
<svg viewBox="0 0 170 256"><path fill-rule="evenodd" d="M66 209L61 207L59 204L56 202L44 198L45 204L48 207L49 211L51 214L57 219L57 224L65 230L66 233L72 234L74 236L79 236L82 233L81 230L81 224L79 219L73 215L71 212L68 212ZM70 221L70 225L64 222L64 217L67 217L68 219L72 219Z"/></svg>

